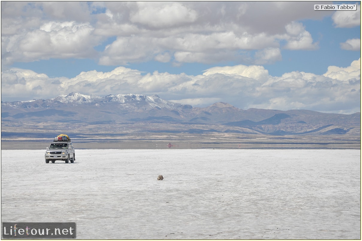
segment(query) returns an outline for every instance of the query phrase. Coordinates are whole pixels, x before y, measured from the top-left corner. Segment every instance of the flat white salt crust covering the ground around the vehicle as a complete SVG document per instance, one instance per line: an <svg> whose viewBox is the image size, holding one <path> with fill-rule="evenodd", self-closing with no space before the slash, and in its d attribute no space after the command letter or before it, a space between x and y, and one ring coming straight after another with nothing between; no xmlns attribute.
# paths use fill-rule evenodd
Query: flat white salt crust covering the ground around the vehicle
<svg viewBox="0 0 362 241"><path fill-rule="evenodd" d="M361 238L360 150L44 152L1 151L2 222L75 222L77 239Z"/></svg>

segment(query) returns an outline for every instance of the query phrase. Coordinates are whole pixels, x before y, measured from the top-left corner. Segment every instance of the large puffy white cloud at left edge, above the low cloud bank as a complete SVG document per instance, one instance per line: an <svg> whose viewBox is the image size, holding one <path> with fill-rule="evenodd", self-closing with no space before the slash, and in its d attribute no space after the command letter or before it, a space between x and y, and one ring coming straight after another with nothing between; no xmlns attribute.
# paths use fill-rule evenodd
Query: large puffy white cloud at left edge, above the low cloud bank
<svg viewBox="0 0 362 241"><path fill-rule="evenodd" d="M89 23L45 22L38 29L19 32L15 35L2 36L3 61L31 62L50 58L85 58L94 56L92 46L100 42L100 38L92 37L94 28Z"/></svg>

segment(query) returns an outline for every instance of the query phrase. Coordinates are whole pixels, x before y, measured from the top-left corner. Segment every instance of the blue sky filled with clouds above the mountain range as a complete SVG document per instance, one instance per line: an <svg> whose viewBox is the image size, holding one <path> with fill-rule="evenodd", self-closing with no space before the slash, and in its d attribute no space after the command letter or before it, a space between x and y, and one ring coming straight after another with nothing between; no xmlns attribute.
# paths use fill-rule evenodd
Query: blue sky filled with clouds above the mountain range
<svg viewBox="0 0 362 241"><path fill-rule="evenodd" d="M200 107L361 109L360 2L2 1L1 37L1 101L134 93Z"/></svg>

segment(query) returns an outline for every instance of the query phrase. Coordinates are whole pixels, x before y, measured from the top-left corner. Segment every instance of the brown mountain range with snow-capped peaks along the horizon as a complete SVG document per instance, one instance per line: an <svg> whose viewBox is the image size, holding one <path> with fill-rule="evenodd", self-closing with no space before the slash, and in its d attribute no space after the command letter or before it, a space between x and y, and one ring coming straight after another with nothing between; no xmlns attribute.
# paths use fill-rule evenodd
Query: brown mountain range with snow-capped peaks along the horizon
<svg viewBox="0 0 362 241"><path fill-rule="evenodd" d="M1 101L4 133L233 132L273 136L361 135L361 113L330 114L311 110L238 109L218 102L193 107L157 95L100 97L70 93L47 100Z"/></svg>

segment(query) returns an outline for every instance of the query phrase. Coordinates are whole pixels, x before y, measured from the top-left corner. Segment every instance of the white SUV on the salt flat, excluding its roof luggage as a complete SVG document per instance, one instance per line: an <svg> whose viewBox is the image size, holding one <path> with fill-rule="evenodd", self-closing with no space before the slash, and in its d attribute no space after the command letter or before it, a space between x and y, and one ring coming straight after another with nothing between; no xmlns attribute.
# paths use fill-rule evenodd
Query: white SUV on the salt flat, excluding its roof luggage
<svg viewBox="0 0 362 241"><path fill-rule="evenodd" d="M73 144L70 140L59 140L50 144L49 148L45 152L45 163L55 163L56 160L69 161L73 163L75 161L75 151Z"/></svg>

